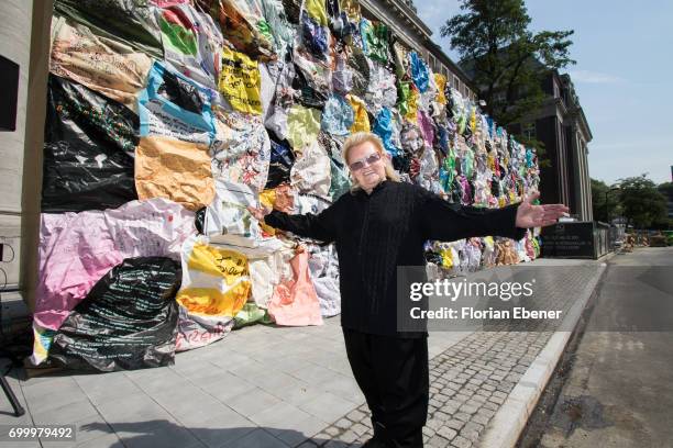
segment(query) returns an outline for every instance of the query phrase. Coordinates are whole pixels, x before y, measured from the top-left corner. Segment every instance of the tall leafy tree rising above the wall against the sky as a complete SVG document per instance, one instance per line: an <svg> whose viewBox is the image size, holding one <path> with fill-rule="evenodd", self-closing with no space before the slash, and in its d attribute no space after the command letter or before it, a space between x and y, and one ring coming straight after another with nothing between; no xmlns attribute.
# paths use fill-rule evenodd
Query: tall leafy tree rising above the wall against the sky
<svg viewBox="0 0 673 448"><path fill-rule="evenodd" d="M441 27L442 37L451 37L461 66L473 75L484 111L503 126L519 122L541 105L542 77L575 63L567 38L574 32L532 33L522 0L463 0L461 10Z"/></svg>

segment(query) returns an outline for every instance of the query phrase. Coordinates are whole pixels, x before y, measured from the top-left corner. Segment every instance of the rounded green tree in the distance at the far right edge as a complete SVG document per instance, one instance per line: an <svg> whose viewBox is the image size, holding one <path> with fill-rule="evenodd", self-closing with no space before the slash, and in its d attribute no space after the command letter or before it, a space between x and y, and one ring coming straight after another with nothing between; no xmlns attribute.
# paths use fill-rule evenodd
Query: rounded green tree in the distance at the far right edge
<svg viewBox="0 0 673 448"><path fill-rule="evenodd" d="M627 222L636 228L649 228L666 216L666 199L647 173L619 179L619 202Z"/></svg>

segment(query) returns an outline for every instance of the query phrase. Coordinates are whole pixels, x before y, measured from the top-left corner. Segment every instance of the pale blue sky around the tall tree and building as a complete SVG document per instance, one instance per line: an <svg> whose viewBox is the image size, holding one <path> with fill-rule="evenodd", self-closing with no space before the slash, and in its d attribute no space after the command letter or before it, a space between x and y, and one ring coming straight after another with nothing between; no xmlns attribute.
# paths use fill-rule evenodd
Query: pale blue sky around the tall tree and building
<svg viewBox="0 0 673 448"><path fill-rule="evenodd" d="M460 13L457 0L413 0L418 15L440 36L446 19ZM671 180L673 165L673 2L625 0L526 2L531 29L575 30L566 67L589 123L589 173L613 183L648 172ZM668 30L668 31L666 31Z"/></svg>

